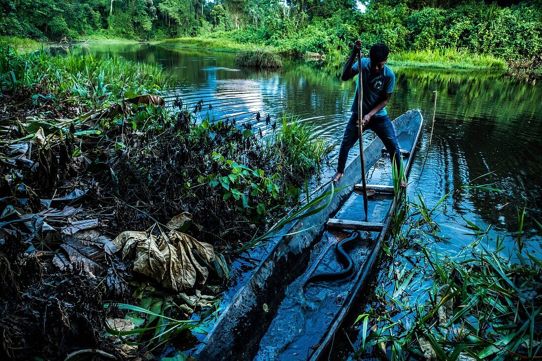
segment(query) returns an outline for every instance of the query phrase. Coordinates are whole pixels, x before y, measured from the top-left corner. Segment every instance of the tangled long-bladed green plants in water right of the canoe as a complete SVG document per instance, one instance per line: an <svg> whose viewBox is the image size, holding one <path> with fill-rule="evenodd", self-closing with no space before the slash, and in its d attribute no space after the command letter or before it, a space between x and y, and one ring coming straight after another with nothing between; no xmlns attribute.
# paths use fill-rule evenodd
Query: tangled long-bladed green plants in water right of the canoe
<svg viewBox="0 0 542 361"><path fill-rule="evenodd" d="M496 237L489 250L482 244L489 243L489 228L481 229L472 222L464 227L475 231L474 241L457 255L444 255L425 242L425 235L437 240L443 237L433 221L435 208L428 209L421 195L418 200L417 205L411 202L416 210L405 226L418 249L408 257L418 261L414 267L398 270L401 256L394 257L388 286L377 289L377 302L356 320L363 324L354 357L372 353L387 354L391 360L412 356L476 360L539 355L539 257L520 249L521 242L515 244L513 258L505 255L502 236ZM412 216L417 221L412 222ZM427 228L422 229L421 224ZM522 214L518 212L518 240L521 228ZM427 274L433 274L432 282L420 289Z"/></svg>

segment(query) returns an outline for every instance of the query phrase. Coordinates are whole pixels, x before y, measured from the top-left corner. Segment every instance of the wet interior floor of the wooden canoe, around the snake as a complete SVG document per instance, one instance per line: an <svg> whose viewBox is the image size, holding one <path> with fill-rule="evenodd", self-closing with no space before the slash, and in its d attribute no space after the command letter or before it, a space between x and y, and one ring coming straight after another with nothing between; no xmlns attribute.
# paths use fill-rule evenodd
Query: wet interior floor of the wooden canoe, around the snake
<svg viewBox="0 0 542 361"><path fill-rule="evenodd" d="M408 115L408 113L403 115L393 123L399 146L402 149L412 150L410 152L412 154L414 153L422 118L421 114L420 117L409 117ZM366 156L366 160L369 160L374 165L382 157L382 144L379 140L374 141L366 149L370 150L368 153L370 159L367 159ZM375 156L372 156L372 149L375 149ZM378 154L379 157L377 158ZM410 157L410 154L408 157ZM403 157L403 160L405 165L410 165L410 159ZM353 162L356 161L359 162L359 158L353 160ZM389 157L384 156L375 167L377 169L373 168L369 171L372 177L369 178L368 183L391 185ZM379 223L388 221L392 202L393 197L390 195L377 194L372 196L369 199L369 221ZM334 218L363 220L362 196L353 193ZM349 235L350 231L346 230L326 230L320 242L315 245L311 252L309 265L312 265L314 260L317 259L328 242L336 243ZM254 360L317 359L319 355L315 353L323 349L323 347L319 346L324 341L327 331L330 330L333 323L337 323L337 315L345 307L345 304L353 301L352 290L359 286L363 265L374 251L379 237L380 233L376 231L362 232L362 239L350 248L349 254L354 265L356 265L352 278L343 281L312 283L308 285L304 293L301 293L301 286L305 282L307 275L302 274L293 281L286 289L285 298L279 306L276 317L260 341L259 350ZM337 272L341 268L334 247L331 247L326 252L319 267L315 269L314 274Z"/></svg>

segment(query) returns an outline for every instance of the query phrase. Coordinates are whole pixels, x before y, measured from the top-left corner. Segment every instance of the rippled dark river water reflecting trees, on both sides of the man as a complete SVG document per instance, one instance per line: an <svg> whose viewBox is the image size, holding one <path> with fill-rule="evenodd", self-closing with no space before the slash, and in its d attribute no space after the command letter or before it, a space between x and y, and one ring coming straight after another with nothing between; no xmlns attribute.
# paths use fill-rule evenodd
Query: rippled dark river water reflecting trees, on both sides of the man
<svg viewBox="0 0 542 361"><path fill-rule="evenodd" d="M89 44L78 51L162 63L179 77L178 87L165 99L179 97L189 108L203 100L203 109L212 105L211 118L250 121L265 133L269 131L266 115L272 123L280 123L283 114L293 114L335 146L328 156L332 165L356 86L354 80L339 79L340 66L315 61L254 70L235 66L229 53L149 44ZM482 229L493 225L489 247L496 235L504 236L505 244L511 246L517 235L518 210L525 208L524 239L542 258L542 231L534 222L542 222L542 85L500 74L391 68L396 86L386 107L390 118L418 108L425 120L409 177L409 197L417 198L419 193L431 208L469 182L501 190L463 188L455 204L450 198L436 218L450 240L439 244L440 251L454 254L473 241L468 235L472 231L464 227L466 221ZM262 115L259 124L256 112Z"/></svg>

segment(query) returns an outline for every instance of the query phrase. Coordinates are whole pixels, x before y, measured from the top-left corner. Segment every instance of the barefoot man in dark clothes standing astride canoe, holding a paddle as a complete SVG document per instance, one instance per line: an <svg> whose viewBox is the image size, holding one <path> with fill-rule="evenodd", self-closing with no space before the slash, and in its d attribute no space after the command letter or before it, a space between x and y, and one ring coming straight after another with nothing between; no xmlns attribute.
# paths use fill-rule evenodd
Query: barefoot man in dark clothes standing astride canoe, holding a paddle
<svg viewBox="0 0 542 361"><path fill-rule="evenodd" d="M341 79L346 81L352 79L359 73L356 56L362 49L362 42L356 40L352 47L346 64L343 68ZM390 101L391 93L395 87L395 74L386 65L390 49L386 44L374 44L369 50L369 59L362 58L362 85L363 85L363 130L371 129L382 140L384 146L390 153L390 159L395 160L397 169L401 169L401 151L391 124L390 117L386 111L386 104ZM340 145L339 164L337 173L333 176L333 182L337 182L344 175L344 167L348 153L359 138L358 134L358 99L359 84L356 87L356 96L352 102L350 111L352 115L344 131L343 142ZM401 186L406 188L404 179Z"/></svg>

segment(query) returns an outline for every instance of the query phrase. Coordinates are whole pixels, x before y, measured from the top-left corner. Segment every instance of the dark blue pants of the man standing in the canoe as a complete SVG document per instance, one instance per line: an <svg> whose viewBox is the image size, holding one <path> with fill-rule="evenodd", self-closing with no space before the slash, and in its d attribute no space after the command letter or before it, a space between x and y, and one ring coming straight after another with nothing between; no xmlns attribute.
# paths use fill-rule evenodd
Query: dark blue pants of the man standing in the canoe
<svg viewBox="0 0 542 361"><path fill-rule="evenodd" d="M344 173L348 152L359 139L357 120L358 114L352 113L344 130L343 143L341 143L339 151L339 165L337 166L337 172L339 173ZM390 159L394 159L397 169L401 169L401 150L399 150L399 144L397 143L397 137L395 136L390 117L388 115L372 117L369 120L369 124L363 130L367 129L371 129L382 140L382 143L384 143L384 146L390 152Z"/></svg>

